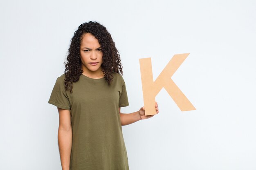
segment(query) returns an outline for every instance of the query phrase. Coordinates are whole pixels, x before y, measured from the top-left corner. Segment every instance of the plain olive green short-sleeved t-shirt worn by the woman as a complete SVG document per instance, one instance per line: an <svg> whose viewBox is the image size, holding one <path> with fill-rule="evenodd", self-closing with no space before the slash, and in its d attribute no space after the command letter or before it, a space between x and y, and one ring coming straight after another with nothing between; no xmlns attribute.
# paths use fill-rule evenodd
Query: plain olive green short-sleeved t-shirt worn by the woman
<svg viewBox="0 0 256 170"><path fill-rule="evenodd" d="M48 101L70 110L72 149L70 170L129 170L119 107L128 106L124 79L113 72L105 78L80 75L73 93L65 90L65 74L57 78Z"/></svg>

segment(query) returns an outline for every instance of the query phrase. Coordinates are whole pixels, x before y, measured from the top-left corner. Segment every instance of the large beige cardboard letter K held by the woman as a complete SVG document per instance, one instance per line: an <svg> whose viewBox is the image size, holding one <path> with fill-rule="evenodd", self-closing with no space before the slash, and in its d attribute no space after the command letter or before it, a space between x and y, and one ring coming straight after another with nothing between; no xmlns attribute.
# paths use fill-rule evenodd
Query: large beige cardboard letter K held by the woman
<svg viewBox="0 0 256 170"><path fill-rule="evenodd" d="M172 75L188 55L189 53L173 55L157 79L155 79L155 82L153 81L151 58L139 59L145 115L156 114L155 97L162 88L165 88L180 110L196 110L191 102L189 102L189 99L186 98L180 88L171 79Z"/></svg>

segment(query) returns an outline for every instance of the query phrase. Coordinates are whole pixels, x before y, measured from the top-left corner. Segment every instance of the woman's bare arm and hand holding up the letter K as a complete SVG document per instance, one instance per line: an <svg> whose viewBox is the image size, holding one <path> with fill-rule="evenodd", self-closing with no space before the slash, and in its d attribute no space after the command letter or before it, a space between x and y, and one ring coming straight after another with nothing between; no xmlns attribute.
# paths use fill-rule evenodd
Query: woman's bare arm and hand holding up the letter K
<svg viewBox="0 0 256 170"><path fill-rule="evenodd" d="M158 104L155 102L155 110L157 111L157 114L159 113ZM132 124L136 121L139 121L141 119L148 119L150 117L153 117L154 115L145 115L145 108L141 107L139 111L133 112L133 113L121 113L121 108L119 108L119 114L121 119L121 125L125 126L128 124Z"/></svg>

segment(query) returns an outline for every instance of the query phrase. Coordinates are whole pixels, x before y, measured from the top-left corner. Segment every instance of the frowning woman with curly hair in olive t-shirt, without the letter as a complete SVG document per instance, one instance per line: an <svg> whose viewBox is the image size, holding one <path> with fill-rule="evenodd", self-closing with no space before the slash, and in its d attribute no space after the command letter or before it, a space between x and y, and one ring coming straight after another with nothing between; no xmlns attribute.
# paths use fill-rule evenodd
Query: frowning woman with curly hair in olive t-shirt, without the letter
<svg viewBox="0 0 256 170"><path fill-rule="evenodd" d="M58 146L63 170L129 170L121 126L145 116L129 114L119 52L106 27L83 23L68 50L65 72L57 78L49 104L59 113ZM156 113L159 113L157 102Z"/></svg>

